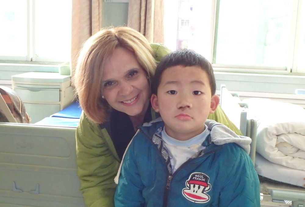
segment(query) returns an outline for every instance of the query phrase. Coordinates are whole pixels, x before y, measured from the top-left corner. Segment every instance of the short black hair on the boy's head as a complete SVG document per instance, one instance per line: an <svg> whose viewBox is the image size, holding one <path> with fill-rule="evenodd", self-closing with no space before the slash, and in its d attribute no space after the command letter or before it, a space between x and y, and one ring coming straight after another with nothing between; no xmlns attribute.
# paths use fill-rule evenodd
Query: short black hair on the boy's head
<svg viewBox="0 0 305 207"><path fill-rule="evenodd" d="M216 83L212 65L202 55L192 50L176 50L170 54L167 54L160 61L156 68L155 76L152 78L151 90L152 94L157 94L158 87L160 84L161 76L164 70L170 67L181 65L187 66L198 66L206 72L210 82L210 88L212 95L216 92Z"/></svg>

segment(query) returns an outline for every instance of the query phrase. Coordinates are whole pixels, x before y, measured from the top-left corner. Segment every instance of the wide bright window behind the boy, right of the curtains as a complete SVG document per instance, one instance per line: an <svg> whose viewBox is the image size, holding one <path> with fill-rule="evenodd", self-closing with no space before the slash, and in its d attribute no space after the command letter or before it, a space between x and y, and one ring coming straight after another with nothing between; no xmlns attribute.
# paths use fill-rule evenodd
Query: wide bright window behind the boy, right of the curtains
<svg viewBox="0 0 305 207"><path fill-rule="evenodd" d="M202 54L214 68L305 73L302 0L173 2L164 4L164 39L171 50L181 47L180 40L188 40L186 47ZM174 28L172 21L178 21L179 27Z"/></svg>

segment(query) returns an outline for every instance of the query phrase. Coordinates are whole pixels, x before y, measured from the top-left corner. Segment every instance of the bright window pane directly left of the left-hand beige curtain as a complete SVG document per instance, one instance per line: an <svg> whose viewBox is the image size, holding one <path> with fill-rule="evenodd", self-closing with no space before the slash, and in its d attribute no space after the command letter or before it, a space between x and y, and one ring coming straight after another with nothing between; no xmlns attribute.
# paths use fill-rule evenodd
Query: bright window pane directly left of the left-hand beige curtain
<svg viewBox="0 0 305 207"><path fill-rule="evenodd" d="M36 60L70 60L71 7L71 0L35 1Z"/></svg>

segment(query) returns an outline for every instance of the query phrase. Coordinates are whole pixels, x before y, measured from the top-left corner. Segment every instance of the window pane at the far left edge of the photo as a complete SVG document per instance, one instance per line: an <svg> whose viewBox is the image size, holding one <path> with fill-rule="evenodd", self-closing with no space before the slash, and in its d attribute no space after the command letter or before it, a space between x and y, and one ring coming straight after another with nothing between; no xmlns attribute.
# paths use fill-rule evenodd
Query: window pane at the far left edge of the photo
<svg viewBox="0 0 305 207"><path fill-rule="evenodd" d="M0 56L27 56L27 1L0 0Z"/></svg>

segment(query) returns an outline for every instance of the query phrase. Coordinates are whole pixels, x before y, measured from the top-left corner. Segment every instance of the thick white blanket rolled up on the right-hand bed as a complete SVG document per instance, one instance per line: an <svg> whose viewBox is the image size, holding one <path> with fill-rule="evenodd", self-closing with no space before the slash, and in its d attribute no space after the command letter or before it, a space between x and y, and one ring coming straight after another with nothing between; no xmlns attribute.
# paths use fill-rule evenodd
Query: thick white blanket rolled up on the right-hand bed
<svg viewBox="0 0 305 207"><path fill-rule="evenodd" d="M257 121L256 151L267 160L305 170L305 109L263 98L243 100Z"/></svg>

